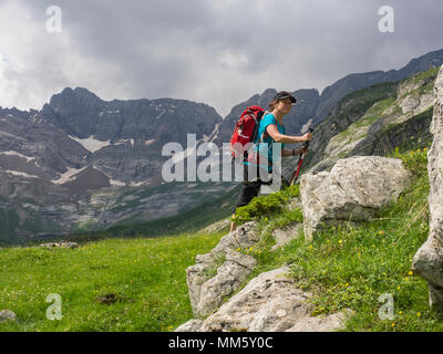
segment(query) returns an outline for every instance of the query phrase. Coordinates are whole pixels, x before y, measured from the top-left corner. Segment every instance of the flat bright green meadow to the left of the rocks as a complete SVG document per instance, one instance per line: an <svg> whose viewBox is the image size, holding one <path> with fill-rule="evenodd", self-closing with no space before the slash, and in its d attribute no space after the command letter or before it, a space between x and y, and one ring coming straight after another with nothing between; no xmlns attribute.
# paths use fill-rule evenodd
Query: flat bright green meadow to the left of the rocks
<svg viewBox="0 0 443 354"><path fill-rule="evenodd" d="M225 233L0 250L0 310L19 319L0 331L171 331L193 317L186 268ZM51 293L62 299L60 321L45 316Z"/></svg>

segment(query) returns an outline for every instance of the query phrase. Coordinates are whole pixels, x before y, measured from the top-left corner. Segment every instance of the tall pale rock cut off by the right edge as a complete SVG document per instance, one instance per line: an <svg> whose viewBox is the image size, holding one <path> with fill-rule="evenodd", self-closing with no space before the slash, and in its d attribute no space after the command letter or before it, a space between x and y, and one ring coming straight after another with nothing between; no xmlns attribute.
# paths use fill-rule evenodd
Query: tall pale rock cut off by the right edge
<svg viewBox="0 0 443 354"><path fill-rule="evenodd" d="M435 81L434 96L431 123L434 140L427 153L430 235L416 252L412 268L429 282L430 305L443 310L443 66Z"/></svg>

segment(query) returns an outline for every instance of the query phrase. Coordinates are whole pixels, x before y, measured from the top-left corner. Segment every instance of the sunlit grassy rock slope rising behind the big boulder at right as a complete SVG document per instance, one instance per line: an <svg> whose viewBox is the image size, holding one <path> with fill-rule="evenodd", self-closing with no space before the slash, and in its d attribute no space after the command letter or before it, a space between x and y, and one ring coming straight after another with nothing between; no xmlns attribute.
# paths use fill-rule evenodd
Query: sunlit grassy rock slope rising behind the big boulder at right
<svg viewBox="0 0 443 354"><path fill-rule="evenodd" d="M339 158L384 156L431 142L429 126L437 67L399 83L370 86L346 96L318 125L306 169L330 169Z"/></svg>

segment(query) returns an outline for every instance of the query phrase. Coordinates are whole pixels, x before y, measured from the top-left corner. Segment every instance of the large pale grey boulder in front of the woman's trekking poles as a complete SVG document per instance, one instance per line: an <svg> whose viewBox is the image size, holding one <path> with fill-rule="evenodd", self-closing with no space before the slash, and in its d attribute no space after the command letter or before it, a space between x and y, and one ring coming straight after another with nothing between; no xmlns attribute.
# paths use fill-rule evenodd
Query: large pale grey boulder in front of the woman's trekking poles
<svg viewBox="0 0 443 354"><path fill-rule="evenodd" d="M311 240L323 222L368 221L378 208L399 197L410 177L400 159L379 156L340 159L330 173L303 175L306 239Z"/></svg>

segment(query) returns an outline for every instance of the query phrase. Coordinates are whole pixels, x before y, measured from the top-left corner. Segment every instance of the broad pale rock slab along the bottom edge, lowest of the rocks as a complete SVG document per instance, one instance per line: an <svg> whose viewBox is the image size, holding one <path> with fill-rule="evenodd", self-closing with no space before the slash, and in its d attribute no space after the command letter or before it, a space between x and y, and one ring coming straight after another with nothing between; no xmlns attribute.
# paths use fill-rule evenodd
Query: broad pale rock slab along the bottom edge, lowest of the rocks
<svg viewBox="0 0 443 354"><path fill-rule="evenodd" d="M176 332L333 331L343 327L346 312L311 317L309 293L295 288L284 267L264 272L206 320L190 320Z"/></svg>

